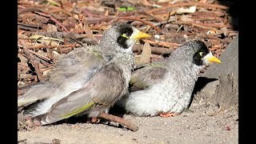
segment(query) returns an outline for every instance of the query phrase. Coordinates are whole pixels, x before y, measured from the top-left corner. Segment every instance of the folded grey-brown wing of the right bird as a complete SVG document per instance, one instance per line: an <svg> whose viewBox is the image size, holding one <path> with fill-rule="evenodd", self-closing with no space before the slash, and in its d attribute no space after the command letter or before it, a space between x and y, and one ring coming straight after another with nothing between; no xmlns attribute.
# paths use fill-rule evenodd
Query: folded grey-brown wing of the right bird
<svg viewBox="0 0 256 144"><path fill-rule="evenodd" d="M130 91L144 90L161 81L167 72L164 62L147 64L141 69L134 70L130 78Z"/></svg>

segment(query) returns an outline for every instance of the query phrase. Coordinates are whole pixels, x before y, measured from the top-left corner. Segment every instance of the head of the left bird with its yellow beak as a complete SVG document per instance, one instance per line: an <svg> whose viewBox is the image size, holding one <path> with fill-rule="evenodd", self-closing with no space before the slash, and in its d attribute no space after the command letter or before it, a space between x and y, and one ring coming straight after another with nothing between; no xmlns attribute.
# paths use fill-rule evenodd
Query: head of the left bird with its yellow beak
<svg viewBox="0 0 256 144"><path fill-rule="evenodd" d="M139 31L134 26L130 26L124 22L117 22L105 31L101 43L104 46L109 44L112 46L118 45L115 46L115 49L121 48L122 50L130 51L137 39L149 37L149 34Z"/></svg>

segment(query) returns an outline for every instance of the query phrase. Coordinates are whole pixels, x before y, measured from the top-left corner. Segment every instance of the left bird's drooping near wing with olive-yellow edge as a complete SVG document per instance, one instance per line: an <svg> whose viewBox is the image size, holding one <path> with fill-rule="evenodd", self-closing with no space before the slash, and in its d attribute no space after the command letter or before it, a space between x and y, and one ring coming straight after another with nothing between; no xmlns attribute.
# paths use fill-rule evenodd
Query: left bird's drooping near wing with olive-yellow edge
<svg viewBox="0 0 256 144"><path fill-rule="evenodd" d="M85 111L90 117L97 117L99 112L113 106L114 102L126 93L128 87L126 81L123 71L118 66L106 65L80 90L56 102L49 113L42 117L41 122L42 124L57 122Z"/></svg>

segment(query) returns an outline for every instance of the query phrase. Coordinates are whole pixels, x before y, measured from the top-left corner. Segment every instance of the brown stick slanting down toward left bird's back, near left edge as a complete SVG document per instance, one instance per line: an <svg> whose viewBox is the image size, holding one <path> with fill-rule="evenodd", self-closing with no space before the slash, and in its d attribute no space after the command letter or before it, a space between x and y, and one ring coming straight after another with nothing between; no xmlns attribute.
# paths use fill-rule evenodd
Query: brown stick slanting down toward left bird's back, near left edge
<svg viewBox="0 0 256 144"><path fill-rule="evenodd" d="M34 70L38 76L39 81L42 81L43 77L42 77L42 72L39 69L39 63L35 61L33 54L31 54L30 50L26 48L26 43L23 40L22 42L23 42L22 46L23 46L24 53L29 57L30 62L34 65Z"/></svg>

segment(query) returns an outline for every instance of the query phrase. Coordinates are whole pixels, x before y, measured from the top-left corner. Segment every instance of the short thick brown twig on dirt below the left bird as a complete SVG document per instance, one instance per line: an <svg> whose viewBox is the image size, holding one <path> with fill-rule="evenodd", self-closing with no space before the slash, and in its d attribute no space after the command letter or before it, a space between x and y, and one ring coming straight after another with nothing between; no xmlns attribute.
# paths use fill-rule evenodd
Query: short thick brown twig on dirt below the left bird
<svg viewBox="0 0 256 144"><path fill-rule="evenodd" d="M128 129L133 130L133 131L137 131L138 130L138 126L134 125L134 123L127 121L124 118L120 118L117 116L114 116L112 114L106 114L106 113L101 113L99 114L100 118L105 118L107 120L113 121L113 122L118 122L124 126L127 126Z"/></svg>

